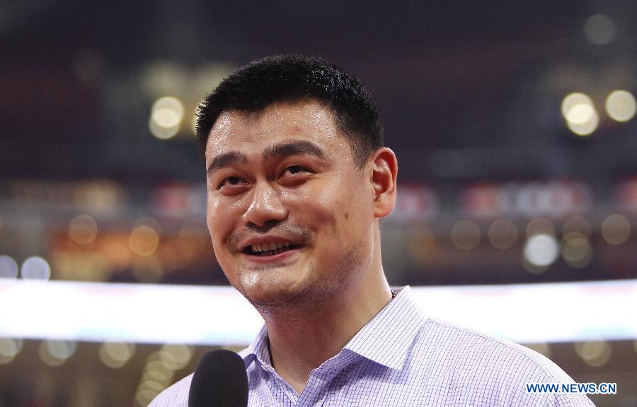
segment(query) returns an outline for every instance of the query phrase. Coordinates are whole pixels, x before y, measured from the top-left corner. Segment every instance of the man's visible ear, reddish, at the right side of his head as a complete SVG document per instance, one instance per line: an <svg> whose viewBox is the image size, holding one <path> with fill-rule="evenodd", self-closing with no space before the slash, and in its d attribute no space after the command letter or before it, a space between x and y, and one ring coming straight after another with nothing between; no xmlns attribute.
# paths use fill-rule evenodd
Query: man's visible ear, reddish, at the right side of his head
<svg viewBox="0 0 637 407"><path fill-rule="evenodd" d="M396 204L396 176L398 160L389 148L381 147L372 155L372 188L374 189L374 216L384 218Z"/></svg>

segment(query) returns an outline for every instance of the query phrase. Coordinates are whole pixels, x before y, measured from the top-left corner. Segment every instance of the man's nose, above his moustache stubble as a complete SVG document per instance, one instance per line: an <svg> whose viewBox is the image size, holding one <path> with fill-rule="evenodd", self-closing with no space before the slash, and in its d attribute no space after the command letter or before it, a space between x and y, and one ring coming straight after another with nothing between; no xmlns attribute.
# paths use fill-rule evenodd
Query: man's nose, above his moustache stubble
<svg viewBox="0 0 637 407"><path fill-rule="evenodd" d="M287 216L287 208L282 204L280 194L268 182L257 182L252 192L252 201L245 213L246 225L263 227L278 223Z"/></svg>

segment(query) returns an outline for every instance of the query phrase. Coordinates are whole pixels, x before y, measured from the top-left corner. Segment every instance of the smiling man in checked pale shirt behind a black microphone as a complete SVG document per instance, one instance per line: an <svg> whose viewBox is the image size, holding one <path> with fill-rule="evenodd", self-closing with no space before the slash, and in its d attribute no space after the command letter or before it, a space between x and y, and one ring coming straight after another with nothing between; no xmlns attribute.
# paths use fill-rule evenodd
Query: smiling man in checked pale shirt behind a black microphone
<svg viewBox="0 0 637 407"><path fill-rule="evenodd" d="M202 103L197 136L214 253L265 320L240 353L249 406L592 406L526 393L573 380L391 290L379 220L394 208L398 164L357 78L322 59L254 61ZM191 379L151 406L187 406Z"/></svg>

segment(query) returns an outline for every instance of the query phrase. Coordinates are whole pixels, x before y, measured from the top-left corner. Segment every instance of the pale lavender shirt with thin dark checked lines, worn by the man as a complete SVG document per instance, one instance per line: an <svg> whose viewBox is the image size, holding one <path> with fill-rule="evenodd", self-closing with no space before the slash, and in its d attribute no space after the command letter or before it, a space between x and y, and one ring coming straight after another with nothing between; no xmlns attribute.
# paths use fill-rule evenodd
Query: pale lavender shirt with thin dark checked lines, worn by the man
<svg viewBox="0 0 637 407"><path fill-rule="evenodd" d="M573 383L549 359L510 341L427 318L409 287L314 369L301 394L272 367L265 327L239 353L248 406L593 406L585 395L527 393L527 383ZM192 374L150 407L188 407Z"/></svg>

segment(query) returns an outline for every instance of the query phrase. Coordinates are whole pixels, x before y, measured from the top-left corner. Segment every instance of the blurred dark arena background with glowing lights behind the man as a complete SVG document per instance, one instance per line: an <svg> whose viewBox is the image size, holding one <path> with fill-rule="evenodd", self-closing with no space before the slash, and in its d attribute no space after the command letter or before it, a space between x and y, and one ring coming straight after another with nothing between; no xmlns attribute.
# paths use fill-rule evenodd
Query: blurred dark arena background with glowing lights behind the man
<svg viewBox="0 0 637 407"><path fill-rule="evenodd" d="M137 305L227 285L193 113L236 67L287 52L356 73L379 103L400 164L390 283L608 287L621 334L526 344L576 382L616 382L597 406L637 406L621 302L637 297L636 21L629 0L0 0L0 406L147 406L206 350L249 342L173 338L163 314L144 336ZM578 293L551 308L577 314ZM139 336L56 330L79 310Z"/></svg>

